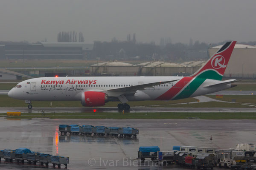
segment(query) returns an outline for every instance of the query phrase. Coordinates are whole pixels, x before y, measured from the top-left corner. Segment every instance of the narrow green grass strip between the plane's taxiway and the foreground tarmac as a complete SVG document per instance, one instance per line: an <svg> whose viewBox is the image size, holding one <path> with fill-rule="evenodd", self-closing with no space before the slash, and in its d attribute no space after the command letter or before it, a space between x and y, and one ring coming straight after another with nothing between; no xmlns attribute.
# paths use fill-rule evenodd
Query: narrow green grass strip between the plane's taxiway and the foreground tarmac
<svg viewBox="0 0 256 170"><path fill-rule="evenodd" d="M7 119L256 119L256 113L45 113L44 116L41 113L22 113L21 116L5 117Z"/></svg>

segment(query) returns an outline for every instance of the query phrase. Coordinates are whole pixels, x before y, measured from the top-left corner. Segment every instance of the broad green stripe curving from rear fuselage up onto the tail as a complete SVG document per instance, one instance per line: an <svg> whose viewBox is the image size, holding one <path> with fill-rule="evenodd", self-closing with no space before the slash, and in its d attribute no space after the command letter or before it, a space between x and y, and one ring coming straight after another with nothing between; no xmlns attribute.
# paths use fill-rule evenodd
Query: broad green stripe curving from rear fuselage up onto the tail
<svg viewBox="0 0 256 170"><path fill-rule="evenodd" d="M178 94L174 98L174 100L188 98L200 87L201 84L203 84L206 79L221 80L222 76L212 70L205 71L202 74L198 75L198 77L196 77L191 83L189 83L189 88L186 87L180 94Z"/></svg>

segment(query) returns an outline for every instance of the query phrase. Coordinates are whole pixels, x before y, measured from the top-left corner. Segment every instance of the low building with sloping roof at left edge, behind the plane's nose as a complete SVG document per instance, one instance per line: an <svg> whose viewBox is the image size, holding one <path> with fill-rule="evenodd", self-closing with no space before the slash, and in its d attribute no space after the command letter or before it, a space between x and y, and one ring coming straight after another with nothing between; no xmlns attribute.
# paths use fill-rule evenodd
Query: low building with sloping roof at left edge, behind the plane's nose
<svg viewBox="0 0 256 170"><path fill-rule="evenodd" d="M15 79L20 80L22 79L22 77L32 78L25 74L20 74L15 71L10 71L10 70L0 68L0 80L15 80Z"/></svg>

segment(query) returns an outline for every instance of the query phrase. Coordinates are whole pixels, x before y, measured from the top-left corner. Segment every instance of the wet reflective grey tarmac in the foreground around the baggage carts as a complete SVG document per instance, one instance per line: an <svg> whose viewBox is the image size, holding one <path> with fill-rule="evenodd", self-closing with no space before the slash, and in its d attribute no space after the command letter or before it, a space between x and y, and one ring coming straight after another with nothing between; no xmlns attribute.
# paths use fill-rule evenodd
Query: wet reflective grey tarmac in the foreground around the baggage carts
<svg viewBox="0 0 256 170"><path fill-rule="evenodd" d="M59 136L59 124L104 125L107 127L136 127L137 138L110 136ZM140 146L159 146L172 150L172 146L234 148L237 143L254 143L256 120L172 120L172 119L32 119L6 120L0 118L0 150L27 147L49 154L69 156L70 170L181 169L177 165L163 167L152 161L141 164L137 158ZM212 135L212 141L209 140ZM0 162L0 169L45 169L40 165L20 165ZM48 169L53 169L49 165ZM64 169L62 167L61 169ZM182 168L188 170L188 168ZM217 168L215 168L217 170Z"/></svg>

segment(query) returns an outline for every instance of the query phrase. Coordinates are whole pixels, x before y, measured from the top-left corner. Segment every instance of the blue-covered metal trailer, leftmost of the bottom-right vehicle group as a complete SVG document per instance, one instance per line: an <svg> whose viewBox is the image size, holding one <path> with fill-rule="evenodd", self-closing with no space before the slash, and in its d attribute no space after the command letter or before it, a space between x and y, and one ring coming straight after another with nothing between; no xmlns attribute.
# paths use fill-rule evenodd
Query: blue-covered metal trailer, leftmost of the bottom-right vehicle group
<svg viewBox="0 0 256 170"><path fill-rule="evenodd" d="M154 161L157 159L157 151L160 151L158 146L140 147L137 159L145 161L145 158L151 158L151 160Z"/></svg>

